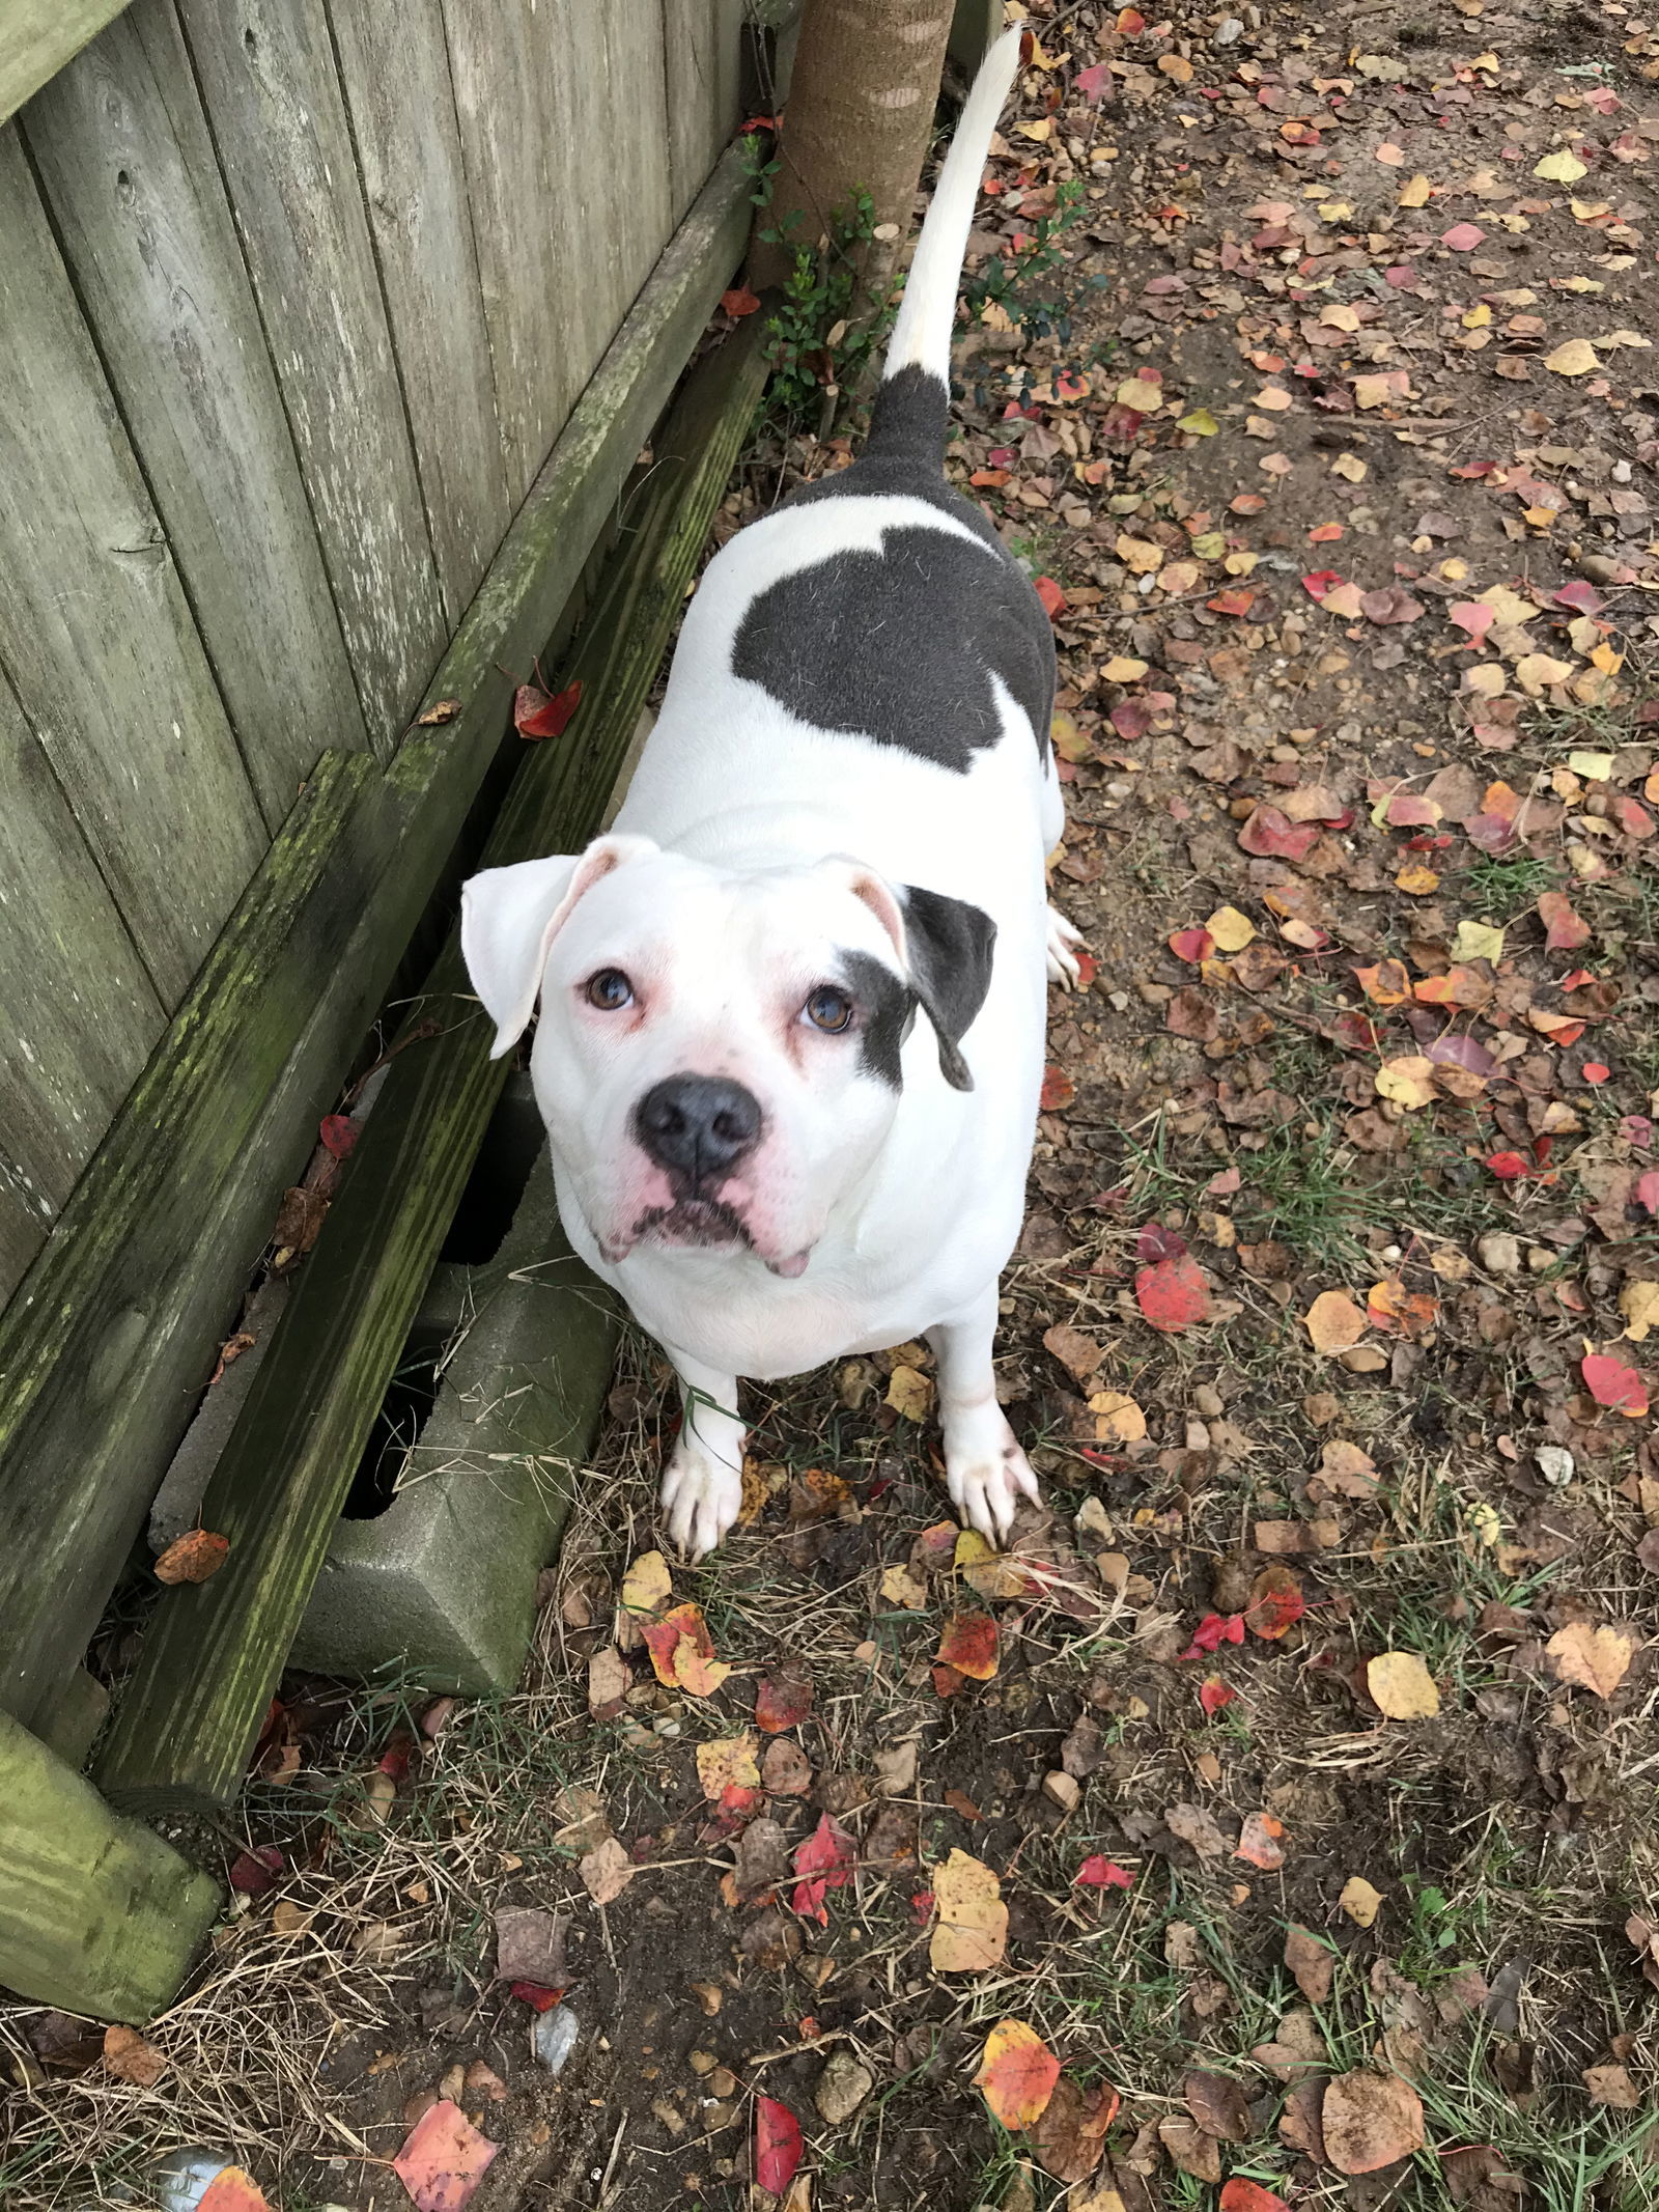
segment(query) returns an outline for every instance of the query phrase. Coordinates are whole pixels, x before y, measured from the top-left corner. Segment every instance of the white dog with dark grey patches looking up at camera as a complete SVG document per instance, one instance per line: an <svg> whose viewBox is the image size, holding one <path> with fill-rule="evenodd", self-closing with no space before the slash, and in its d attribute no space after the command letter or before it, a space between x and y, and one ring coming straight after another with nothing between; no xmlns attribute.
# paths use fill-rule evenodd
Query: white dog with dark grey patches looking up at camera
<svg viewBox="0 0 1659 2212"><path fill-rule="evenodd" d="M462 945L531 1075L571 1243L679 1371L668 1533L737 1520L739 1376L927 1336L951 1500L1037 1482L998 1405L1044 956L1053 637L942 476L956 285L1018 66L991 51L933 195L863 458L741 531L686 615L611 834L473 876ZM918 1009L922 1020L918 1020Z"/></svg>

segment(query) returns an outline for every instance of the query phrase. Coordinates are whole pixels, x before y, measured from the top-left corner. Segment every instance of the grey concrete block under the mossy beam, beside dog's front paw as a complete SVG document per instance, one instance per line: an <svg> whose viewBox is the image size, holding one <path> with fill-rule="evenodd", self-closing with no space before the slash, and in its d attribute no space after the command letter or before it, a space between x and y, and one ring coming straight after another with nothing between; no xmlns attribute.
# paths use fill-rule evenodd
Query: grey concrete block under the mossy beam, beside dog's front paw
<svg viewBox="0 0 1659 2212"><path fill-rule="evenodd" d="M445 1343L436 1402L392 1504L338 1522L290 1663L403 1666L467 1694L518 1686L617 1329L564 1241L542 1150L495 1259L434 1274L411 1343Z"/></svg>

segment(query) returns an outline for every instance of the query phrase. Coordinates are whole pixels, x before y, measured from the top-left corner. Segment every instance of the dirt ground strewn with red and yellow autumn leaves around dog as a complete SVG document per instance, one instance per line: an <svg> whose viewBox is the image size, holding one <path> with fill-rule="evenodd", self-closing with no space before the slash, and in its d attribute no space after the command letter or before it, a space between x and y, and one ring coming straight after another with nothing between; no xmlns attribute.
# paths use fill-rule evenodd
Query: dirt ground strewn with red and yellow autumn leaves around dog
<svg viewBox="0 0 1659 2212"><path fill-rule="evenodd" d="M951 473L1046 580L1091 947L1046 1511L945 1520L909 1345L754 1394L657 1575L633 1347L524 1694L290 1683L153 2081L7 2015L18 2212L179 2143L392 2212L438 2104L476 2212L1659 2205L1659 33L1031 31Z"/></svg>

